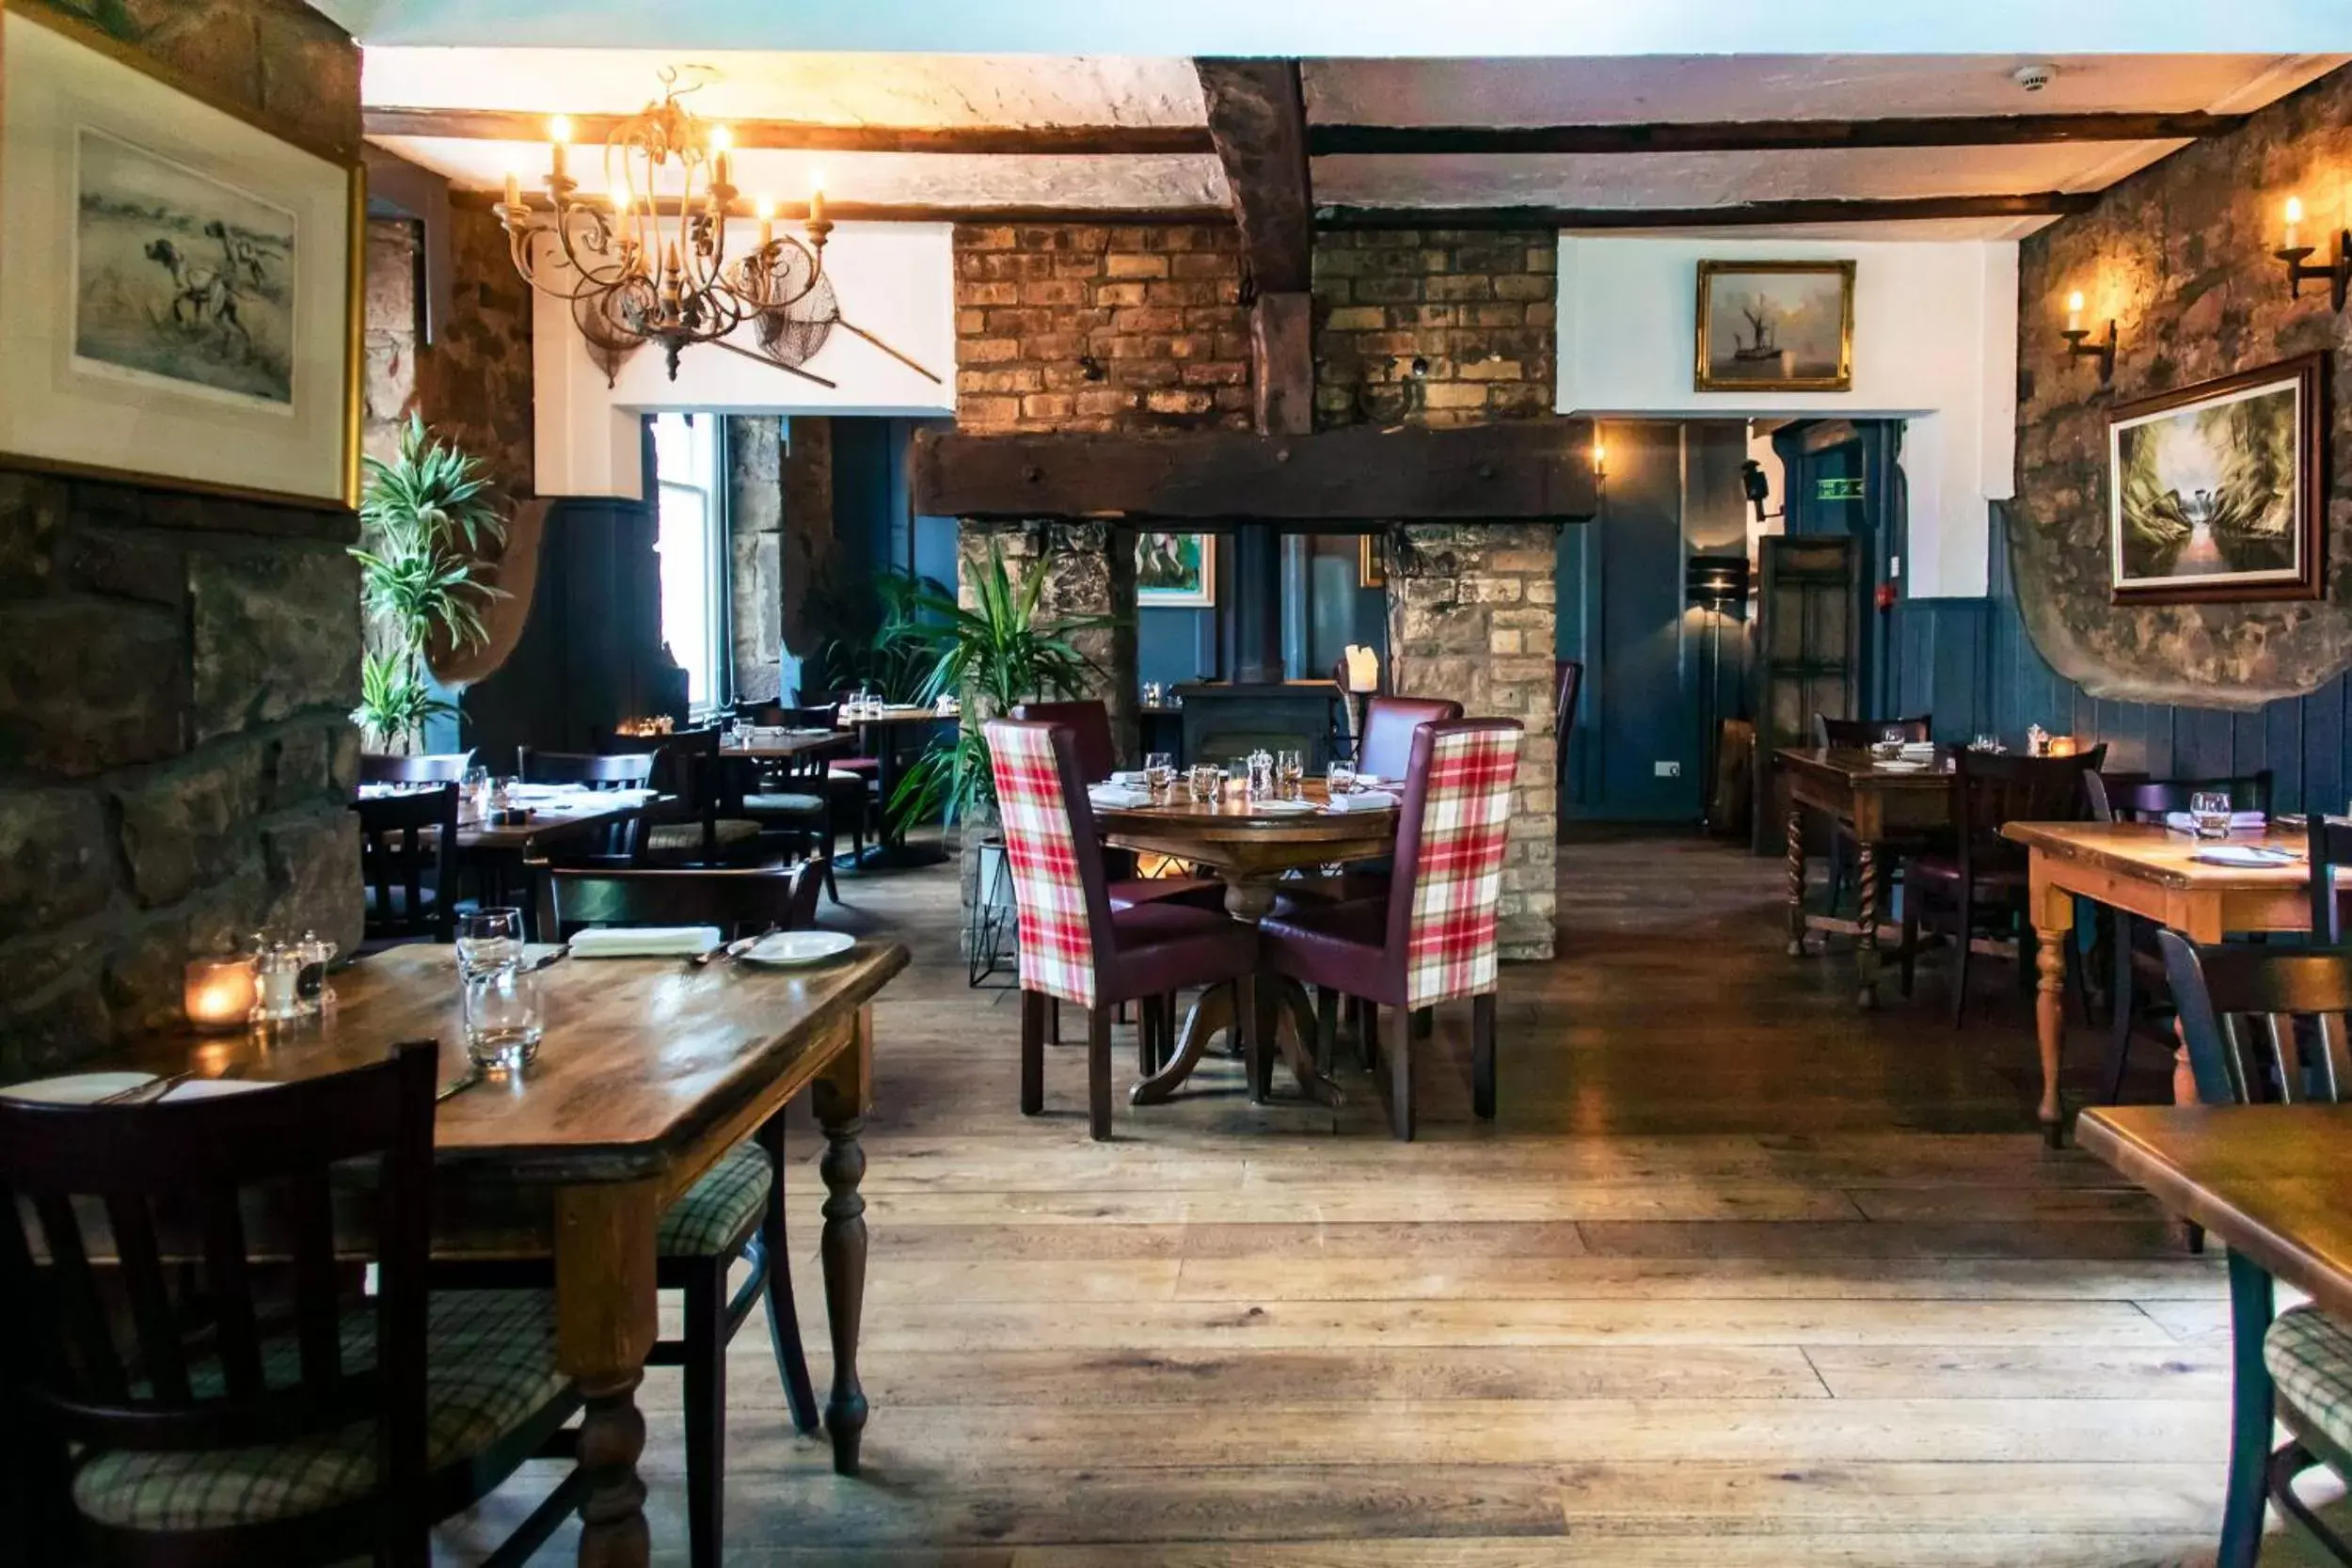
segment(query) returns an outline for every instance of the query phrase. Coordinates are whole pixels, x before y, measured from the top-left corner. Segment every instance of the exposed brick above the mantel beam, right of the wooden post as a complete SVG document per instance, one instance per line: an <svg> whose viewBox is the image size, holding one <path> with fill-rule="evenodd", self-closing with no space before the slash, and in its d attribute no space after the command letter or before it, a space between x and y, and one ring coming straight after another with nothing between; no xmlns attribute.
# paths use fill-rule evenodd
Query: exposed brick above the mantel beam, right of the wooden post
<svg viewBox="0 0 2352 1568"><path fill-rule="evenodd" d="M1315 423L1550 414L1555 249L1552 230L1315 235Z"/></svg>

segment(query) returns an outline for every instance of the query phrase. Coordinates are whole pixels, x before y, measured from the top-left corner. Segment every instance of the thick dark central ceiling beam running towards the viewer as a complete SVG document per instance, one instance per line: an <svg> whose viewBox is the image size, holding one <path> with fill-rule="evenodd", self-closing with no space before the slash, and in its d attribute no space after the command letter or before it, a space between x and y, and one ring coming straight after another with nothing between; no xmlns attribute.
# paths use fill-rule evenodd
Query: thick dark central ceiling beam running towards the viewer
<svg viewBox="0 0 2352 1568"><path fill-rule="evenodd" d="M1308 108L1294 59L1202 59L1209 141L1225 165L1242 259L1261 294L1310 282L1315 195L1308 186Z"/></svg>

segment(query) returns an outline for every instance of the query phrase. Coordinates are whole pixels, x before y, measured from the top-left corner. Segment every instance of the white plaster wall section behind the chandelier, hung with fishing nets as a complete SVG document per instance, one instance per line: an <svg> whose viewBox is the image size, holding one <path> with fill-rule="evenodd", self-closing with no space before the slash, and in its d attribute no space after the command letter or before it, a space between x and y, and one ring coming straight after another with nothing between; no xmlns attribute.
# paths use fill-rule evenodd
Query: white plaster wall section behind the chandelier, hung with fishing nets
<svg viewBox="0 0 2352 1568"><path fill-rule="evenodd" d="M826 244L842 320L856 322L938 376L931 381L840 327L807 369L821 388L717 343L689 348L670 381L659 348L640 348L616 386L588 360L572 310L548 294L532 315L536 484L541 496L644 496L637 416L720 414L953 414L955 249L946 223L842 223Z"/></svg>

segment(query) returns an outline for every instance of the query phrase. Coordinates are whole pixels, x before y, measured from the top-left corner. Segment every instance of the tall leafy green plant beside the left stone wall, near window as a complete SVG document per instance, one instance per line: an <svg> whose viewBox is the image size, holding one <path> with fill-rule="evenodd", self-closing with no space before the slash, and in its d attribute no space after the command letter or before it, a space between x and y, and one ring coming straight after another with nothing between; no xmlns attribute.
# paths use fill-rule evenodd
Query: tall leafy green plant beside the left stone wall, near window
<svg viewBox="0 0 2352 1568"><path fill-rule="evenodd" d="M440 698L426 654L440 637L475 646L482 599L482 543L506 543L506 522L489 498L482 461L435 440L409 416L393 461L367 458L360 498L360 604L369 646L360 661L360 705L350 710L376 745L414 745L428 719L454 712Z"/></svg>

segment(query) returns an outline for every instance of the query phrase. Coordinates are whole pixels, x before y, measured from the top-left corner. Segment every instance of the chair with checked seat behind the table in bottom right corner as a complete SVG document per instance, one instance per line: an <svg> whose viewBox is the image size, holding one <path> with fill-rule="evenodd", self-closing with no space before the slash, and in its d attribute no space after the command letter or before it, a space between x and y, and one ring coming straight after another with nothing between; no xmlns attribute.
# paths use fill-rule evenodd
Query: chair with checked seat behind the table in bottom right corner
<svg viewBox="0 0 2352 1568"><path fill-rule="evenodd" d="M2345 1100L2352 947L2197 945L2178 931L2159 931L2157 945L2199 1105ZM2260 1540L2267 1488L2338 1563L2352 1563L2352 1547L2296 1493L2296 1479L2319 1465L2352 1481L2352 1326L2307 1305L2272 1319L2270 1274L2237 1255L2230 1305L2237 1392L2223 1537ZM2288 1434L2277 1453L2272 1422Z"/></svg>

